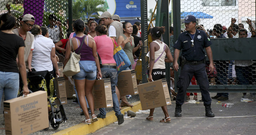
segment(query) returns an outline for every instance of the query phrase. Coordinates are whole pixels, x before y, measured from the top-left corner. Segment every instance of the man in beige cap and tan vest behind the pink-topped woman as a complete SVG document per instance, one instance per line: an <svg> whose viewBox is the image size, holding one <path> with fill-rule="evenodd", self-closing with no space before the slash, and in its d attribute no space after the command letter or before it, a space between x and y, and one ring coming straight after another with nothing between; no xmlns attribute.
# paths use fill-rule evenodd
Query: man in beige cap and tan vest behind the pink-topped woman
<svg viewBox="0 0 256 135"><path fill-rule="evenodd" d="M100 16L98 16L103 20L105 26L108 27L108 36L112 37L117 41L119 36L123 34L123 25L118 21L114 21L112 19L111 14L108 11L103 12Z"/></svg>

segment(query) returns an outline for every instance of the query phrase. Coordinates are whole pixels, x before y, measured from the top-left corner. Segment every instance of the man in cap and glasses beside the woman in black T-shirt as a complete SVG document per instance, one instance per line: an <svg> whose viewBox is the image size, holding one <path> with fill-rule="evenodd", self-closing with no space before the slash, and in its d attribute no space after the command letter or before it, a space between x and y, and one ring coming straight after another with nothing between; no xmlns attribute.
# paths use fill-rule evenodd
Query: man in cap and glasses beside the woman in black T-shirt
<svg viewBox="0 0 256 135"><path fill-rule="evenodd" d="M13 32L21 36L25 42L24 60L27 69L31 71L31 61L32 61L32 51L34 50L34 35L29 31L32 29L35 23L35 18L31 14L26 14L23 16L20 22L20 28L16 28Z"/></svg>

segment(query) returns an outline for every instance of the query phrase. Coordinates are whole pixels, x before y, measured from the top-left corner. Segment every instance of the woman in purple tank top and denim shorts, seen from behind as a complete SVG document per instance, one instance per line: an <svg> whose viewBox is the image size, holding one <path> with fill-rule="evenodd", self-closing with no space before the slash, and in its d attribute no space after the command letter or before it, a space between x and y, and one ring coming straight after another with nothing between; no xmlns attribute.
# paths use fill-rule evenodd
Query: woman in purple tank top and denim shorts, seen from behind
<svg viewBox="0 0 256 135"><path fill-rule="evenodd" d="M78 92L79 102L86 117L86 119L80 123L91 124L91 121L95 122L98 120L94 112L94 98L92 91L96 77L102 77L101 68L99 66L99 58L97 55L97 48L94 39L90 36L84 35L85 24L83 20L76 20L73 24L73 28L76 32L76 36L71 39L72 44L75 53L78 54L80 50L81 56L81 59L79 61L80 72L74 75L73 78L75 80L75 86ZM64 67L69 60L70 54L71 48L70 42L68 42L64 59ZM86 96L89 107L91 109L92 120L90 119L84 96Z"/></svg>

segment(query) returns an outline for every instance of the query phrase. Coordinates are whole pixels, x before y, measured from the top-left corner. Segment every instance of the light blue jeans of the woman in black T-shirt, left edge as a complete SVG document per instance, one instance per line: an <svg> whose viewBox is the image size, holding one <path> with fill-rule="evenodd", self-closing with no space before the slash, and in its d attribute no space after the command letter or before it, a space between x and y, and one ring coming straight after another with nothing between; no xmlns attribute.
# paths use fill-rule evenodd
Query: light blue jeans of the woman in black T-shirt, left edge
<svg viewBox="0 0 256 135"><path fill-rule="evenodd" d="M19 90L19 73L0 71L0 102L4 93L5 100L14 99Z"/></svg>

